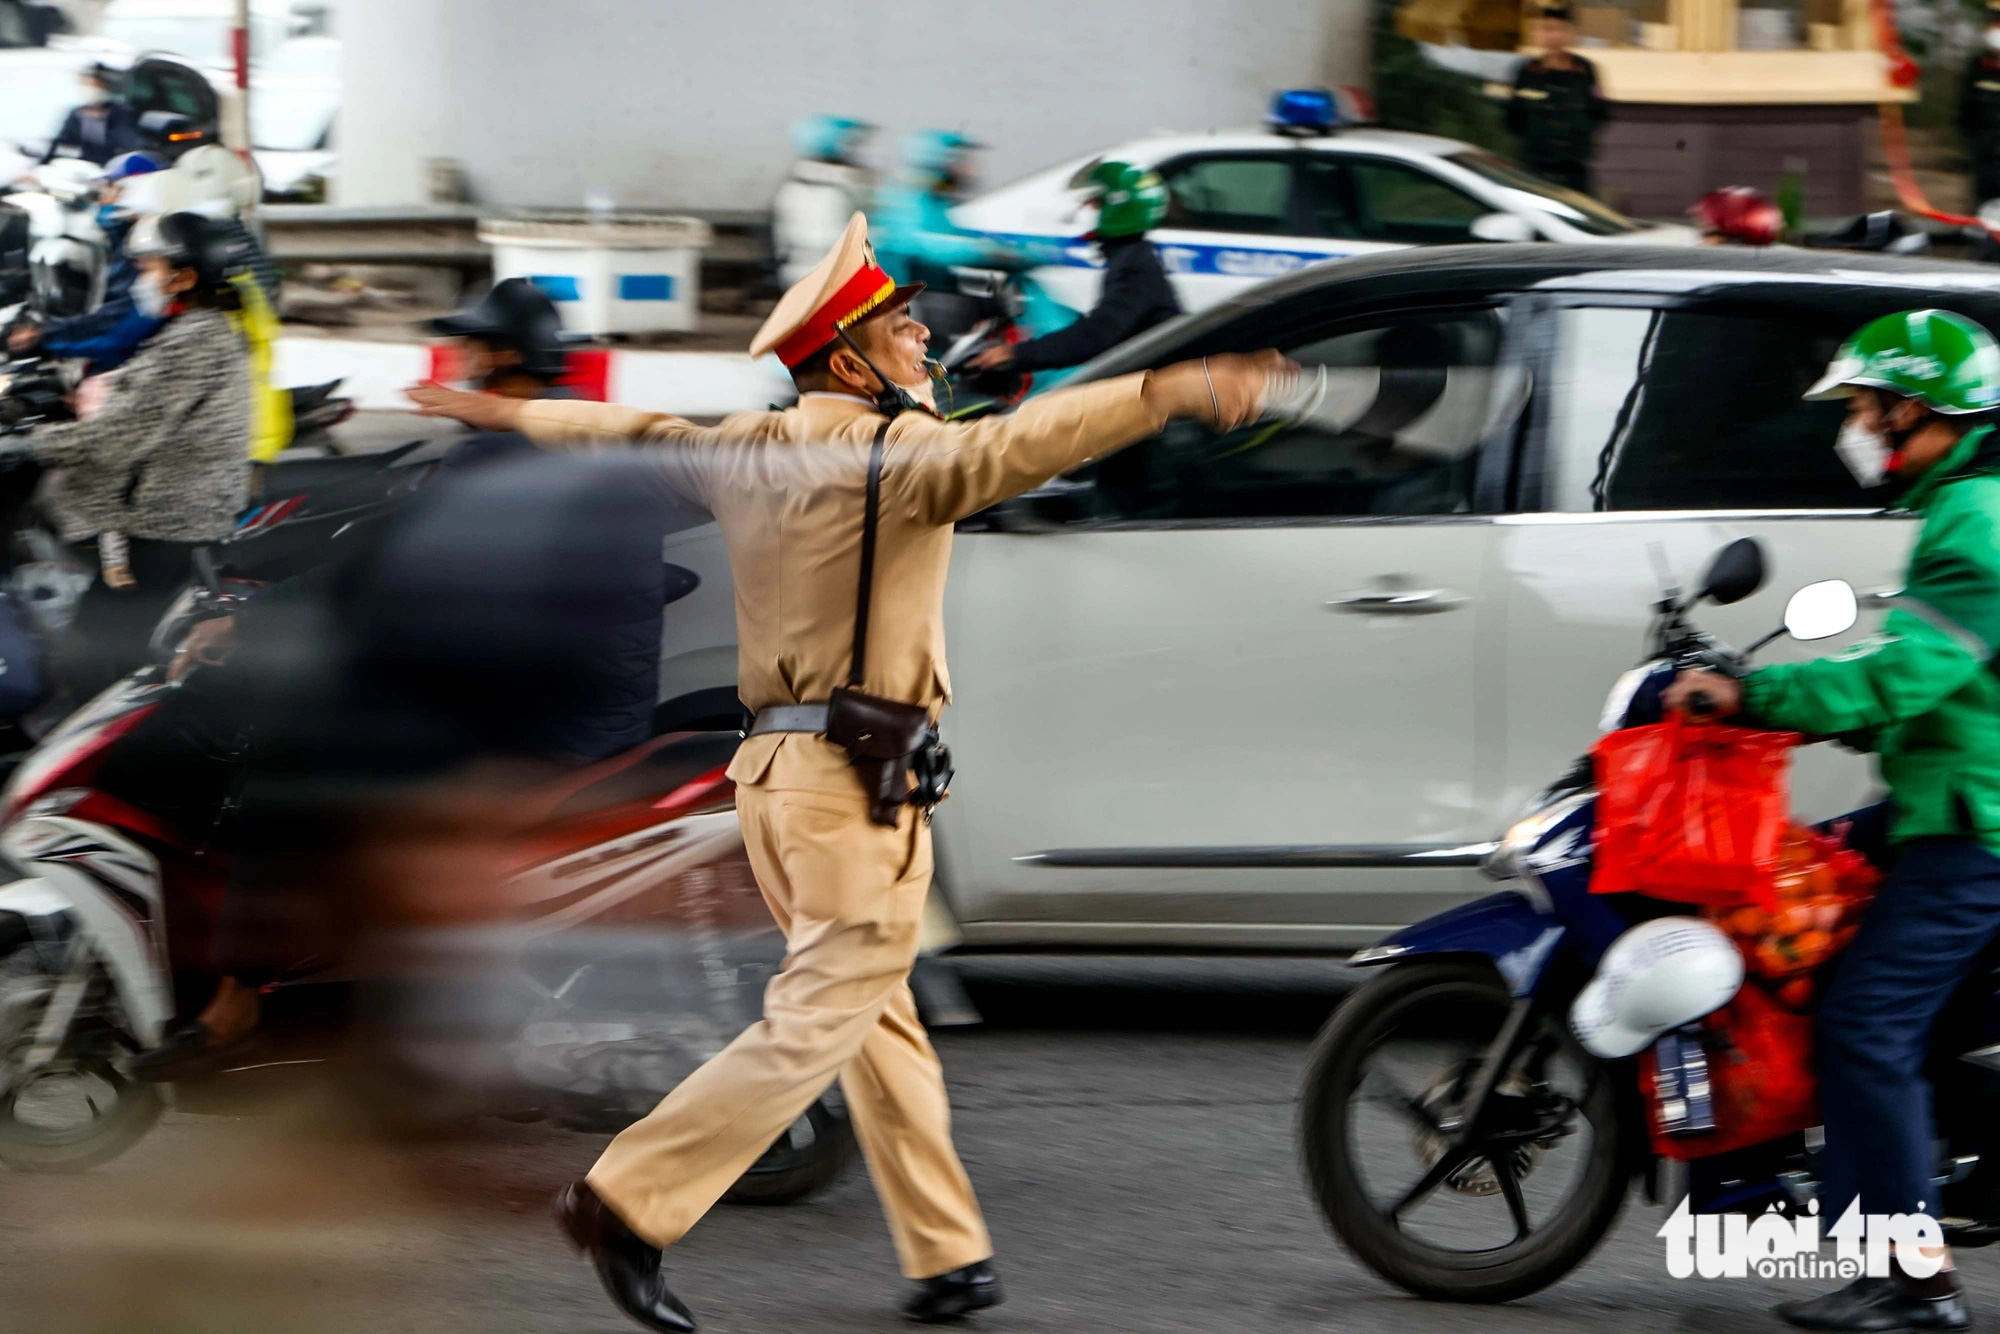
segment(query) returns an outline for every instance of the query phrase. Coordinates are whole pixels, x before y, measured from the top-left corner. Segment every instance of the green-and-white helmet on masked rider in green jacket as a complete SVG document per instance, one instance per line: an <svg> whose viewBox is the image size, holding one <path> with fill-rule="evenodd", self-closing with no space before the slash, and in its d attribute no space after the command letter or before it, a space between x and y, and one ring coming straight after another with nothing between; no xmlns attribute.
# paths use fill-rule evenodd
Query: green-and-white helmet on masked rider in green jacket
<svg viewBox="0 0 2000 1334"><path fill-rule="evenodd" d="M1856 384L1916 398L1932 412L2000 408L2000 344L1950 310L1904 310L1854 332L1806 398L1846 398Z"/></svg>

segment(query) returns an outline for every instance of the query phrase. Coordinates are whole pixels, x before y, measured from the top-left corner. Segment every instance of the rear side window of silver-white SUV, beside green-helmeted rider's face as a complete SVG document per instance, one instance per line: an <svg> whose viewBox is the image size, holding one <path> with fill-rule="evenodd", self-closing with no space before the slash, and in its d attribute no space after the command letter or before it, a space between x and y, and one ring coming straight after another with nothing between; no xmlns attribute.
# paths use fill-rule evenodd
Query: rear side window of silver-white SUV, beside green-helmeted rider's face
<svg viewBox="0 0 2000 1334"><path fill-rule="evenodd" d="M1844 406L1800 398L1848 328L1824 312L1560 312L1550 508L1874 508L1834 450Z"/></svg>

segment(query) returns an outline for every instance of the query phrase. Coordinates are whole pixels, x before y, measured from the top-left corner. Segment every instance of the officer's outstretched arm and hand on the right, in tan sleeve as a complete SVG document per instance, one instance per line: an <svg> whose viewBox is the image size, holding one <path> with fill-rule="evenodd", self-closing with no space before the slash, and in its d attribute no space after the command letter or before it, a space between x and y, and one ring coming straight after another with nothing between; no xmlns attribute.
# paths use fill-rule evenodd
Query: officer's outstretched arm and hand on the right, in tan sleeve
<svg viewBox="0 0 2000 1334"><path fill-rule="evenodd" d="M938 422L904 414L890 432L884 484L916 520L954 524L1136 444L1170 418L1218 430L1252 422L1284 366L1276 352L1224 354L1054 390L1012 416Z"/></svg>

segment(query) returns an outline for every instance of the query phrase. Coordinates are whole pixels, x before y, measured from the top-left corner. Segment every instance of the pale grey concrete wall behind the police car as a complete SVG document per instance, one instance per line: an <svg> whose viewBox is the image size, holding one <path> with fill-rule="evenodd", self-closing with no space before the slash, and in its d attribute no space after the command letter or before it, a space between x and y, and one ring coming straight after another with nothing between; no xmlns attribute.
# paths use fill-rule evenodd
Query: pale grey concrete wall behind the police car
<svg viewBox="0 0 2000 1334"><path fill-rule="evenodd" d="M1366 0L342 0L340 202L762 208L814 112L992 146L986 180L1366 82Z"/></svg>

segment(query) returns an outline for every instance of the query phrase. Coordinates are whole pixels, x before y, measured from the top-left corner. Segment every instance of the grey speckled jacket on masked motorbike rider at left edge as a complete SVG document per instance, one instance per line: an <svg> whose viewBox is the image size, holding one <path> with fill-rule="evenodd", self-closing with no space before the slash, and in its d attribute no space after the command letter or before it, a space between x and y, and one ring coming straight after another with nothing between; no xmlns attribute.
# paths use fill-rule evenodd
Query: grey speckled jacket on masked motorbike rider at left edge
<svg viewBox="0 0 2000 1334"><path fill-rule="evenodd" d="M250 504L250 358L228 318L188 310L118 372L88 422L44 426L28 452L62 468L64 536L214 542Z"/></svg>

